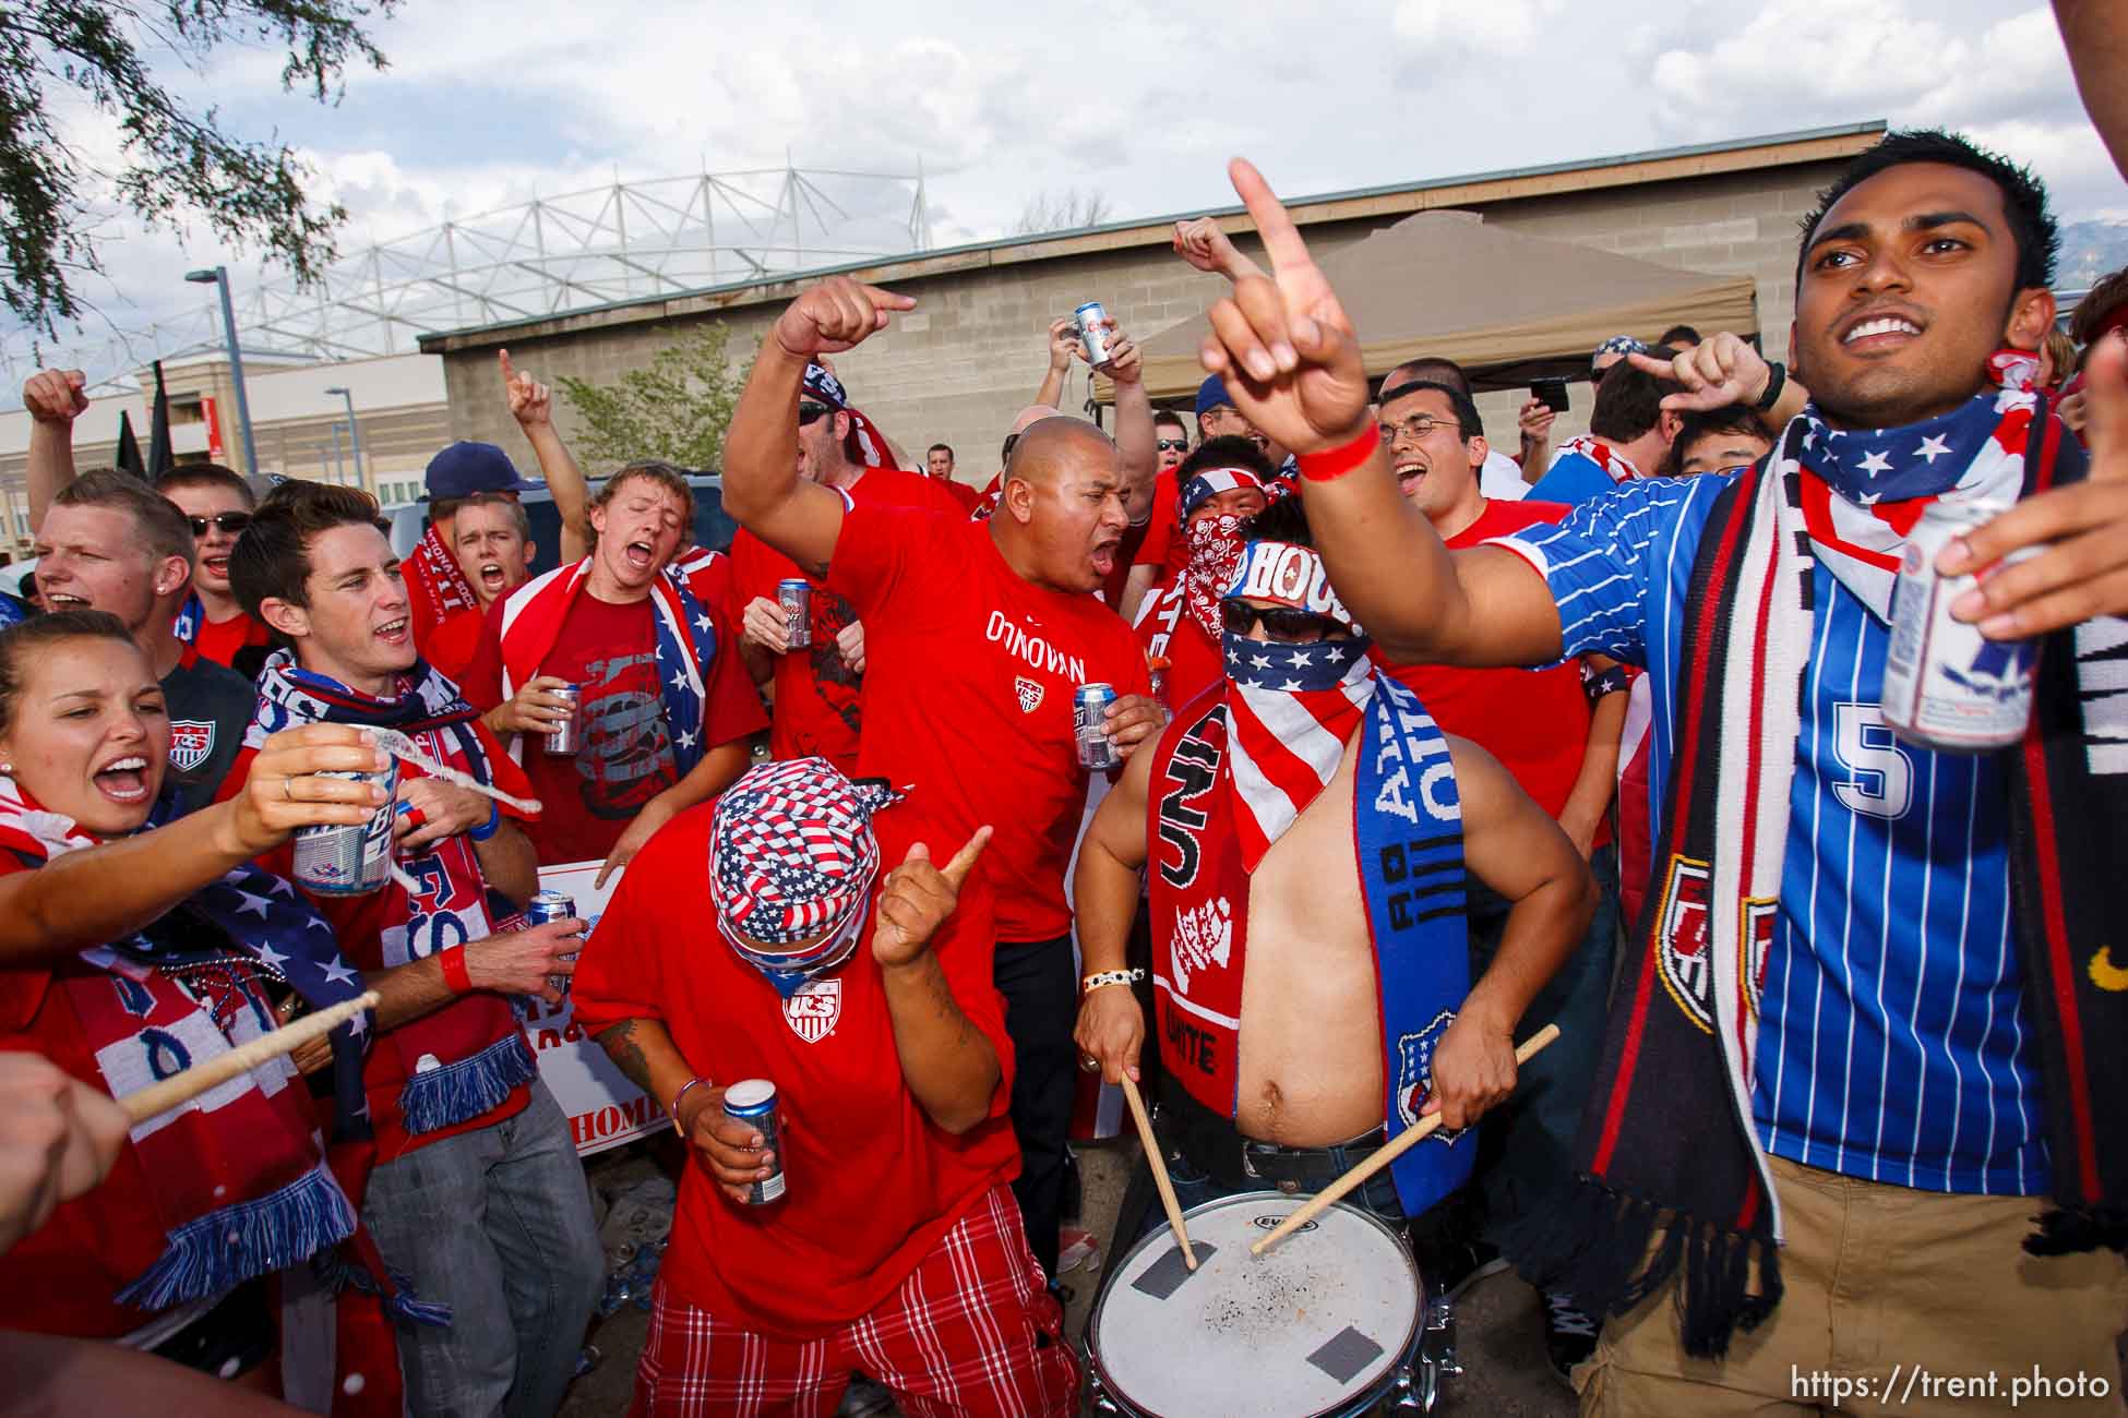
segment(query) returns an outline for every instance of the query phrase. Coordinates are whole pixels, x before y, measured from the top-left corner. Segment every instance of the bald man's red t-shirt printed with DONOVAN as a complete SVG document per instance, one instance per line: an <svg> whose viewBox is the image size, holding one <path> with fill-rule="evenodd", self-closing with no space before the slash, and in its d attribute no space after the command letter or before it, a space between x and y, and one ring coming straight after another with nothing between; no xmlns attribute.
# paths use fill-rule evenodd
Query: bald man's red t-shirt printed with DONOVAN
<svg viewBox="0 0 2128 1418"><path fill-rule="evenodd" d="M1070 931L1087 784L1070 699L1090 682L1147 693L1136 636L1092 595L1021 580L990 523L911 508L845 512L828 585L864 621L858 767L915 784L958 842L996 827L983 872L1000 942Z"/></svg>

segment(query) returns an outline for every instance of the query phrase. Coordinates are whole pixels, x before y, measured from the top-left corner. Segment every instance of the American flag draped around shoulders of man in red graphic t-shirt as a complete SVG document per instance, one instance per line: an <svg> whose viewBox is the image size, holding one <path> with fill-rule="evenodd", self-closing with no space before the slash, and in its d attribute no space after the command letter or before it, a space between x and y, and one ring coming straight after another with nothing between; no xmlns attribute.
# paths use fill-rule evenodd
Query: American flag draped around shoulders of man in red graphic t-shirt
<svg viewBox="0 0 2128 1418"><path fill-rule="evenodd" d="M577 604L592 578L592 557L577 565L558 565L511 591L502 602L502 697L541 672L541 661L562 636L568 608ZM717 625L694 597L687 583L670 568L651 583L651 610L658 625L658 697L664 702L666 729L672 738L672 765L685 778L702 761L702 714L709 697L709 670L717 663ZM511 744L511 757L523 761L523 736Z"/></svg>

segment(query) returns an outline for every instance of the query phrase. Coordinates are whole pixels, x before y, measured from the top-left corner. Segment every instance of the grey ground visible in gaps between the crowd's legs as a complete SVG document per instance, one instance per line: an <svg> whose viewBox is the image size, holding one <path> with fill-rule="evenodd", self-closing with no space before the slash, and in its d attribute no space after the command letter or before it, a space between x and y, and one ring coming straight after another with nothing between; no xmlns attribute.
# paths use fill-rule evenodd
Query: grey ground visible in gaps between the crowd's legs
<svg viewBox="0 0 2128 1418"><path fill-rule="evenodd" d="M662 1154L668 1152L670 1148L662 1144L630 1144L594 1157L585 1169L594 1188L613 1193L655 1176L662 1165L677 1163L677 1157L662 1163ZM1136 1142L1079 1148L1085 1212L1081 1220L1102 1237L1102 1250L1094 1261L1064 1273L1064 1284L1073 1293L1064 1322L1075 1341L1085 1329L1100 1267L1109 1261L1109 1231L1124 1199L1124 1178L1134 1161ZM1513 1273L1492 1276L1473 1286L1458 1305L1464 1378L1449 1388L1443 1412L1568 1418L1575 1399L1545 1363L1541 1314L1536 1293ZM594 1324L592 1344L600 1350L600 1365L570 1388L562 1418L611 1418L628 1412L636 1354L643 1350L647 1329L649 1316L634 1305Z"/></svg>

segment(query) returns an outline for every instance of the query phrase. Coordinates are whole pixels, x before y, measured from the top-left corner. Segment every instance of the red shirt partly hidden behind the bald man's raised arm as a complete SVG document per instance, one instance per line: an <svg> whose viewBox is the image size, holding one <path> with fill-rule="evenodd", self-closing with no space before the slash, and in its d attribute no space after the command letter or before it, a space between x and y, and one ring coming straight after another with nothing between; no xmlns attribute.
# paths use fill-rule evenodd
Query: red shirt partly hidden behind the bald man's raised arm
<svg viewBox="0 0 2128 1418"><path fill-rule="evenodd" d="M966 517L949 491L958 483L941 483L919 472L898 468L866 468L849 500L860 508L934 508L947 517ZM741 529L732 538L732 600L741 614L762 595L777 597L777 583L804 576L798 563L781 551ZM864 689L858 674L843 663L834 638L858 619L847 600L826 585L804 576L813 587L811 648L779 655L775 668L777 704L770 714L768 753L777 759L821 757L845 774L858 772L858 697Z"/></svg>

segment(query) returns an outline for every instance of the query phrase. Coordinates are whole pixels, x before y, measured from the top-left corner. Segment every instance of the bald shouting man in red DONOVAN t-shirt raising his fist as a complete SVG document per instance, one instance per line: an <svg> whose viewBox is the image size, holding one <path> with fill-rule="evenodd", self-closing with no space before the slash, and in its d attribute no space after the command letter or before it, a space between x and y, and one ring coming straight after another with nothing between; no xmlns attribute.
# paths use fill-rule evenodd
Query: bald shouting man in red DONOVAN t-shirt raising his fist
<svg viewBox="0 0 2128 1418"><path fill-rule="evenodd" d="M838 276L783 310L724 442L724 506L864 619L858 772L913 784L945 835L996 829L983 874L1017 1054L1013 1191L1034 1259L1055 1276L1079 1003L1064 865L1090 772L1073 691L1115 689L1102 731L1119 759L1162 725L1136 638L1094 600L1130 525L1130 487L1109 436L1055 412L1019 429L990 521L851 506L800 478L807 361L858 344L911 304Z"/></svg>

